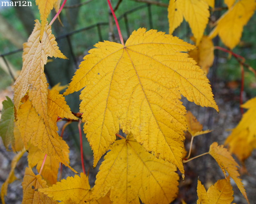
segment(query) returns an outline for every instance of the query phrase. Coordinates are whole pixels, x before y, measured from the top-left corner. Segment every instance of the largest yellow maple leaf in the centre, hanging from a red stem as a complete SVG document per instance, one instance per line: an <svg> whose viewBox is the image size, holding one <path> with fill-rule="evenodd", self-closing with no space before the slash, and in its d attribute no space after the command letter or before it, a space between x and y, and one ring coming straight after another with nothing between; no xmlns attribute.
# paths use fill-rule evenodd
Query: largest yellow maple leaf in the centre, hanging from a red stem
<svg viewBox="0 0 256 204"><path fill-rule="evenodd" d="M84 57L64 94L81 92L84 132L94 152L94 166L123 129L184 173L182 149L189 101L218 110L209 80L186 52L194 46L172 35L145 28L125 46L100 42Z"/></svg>

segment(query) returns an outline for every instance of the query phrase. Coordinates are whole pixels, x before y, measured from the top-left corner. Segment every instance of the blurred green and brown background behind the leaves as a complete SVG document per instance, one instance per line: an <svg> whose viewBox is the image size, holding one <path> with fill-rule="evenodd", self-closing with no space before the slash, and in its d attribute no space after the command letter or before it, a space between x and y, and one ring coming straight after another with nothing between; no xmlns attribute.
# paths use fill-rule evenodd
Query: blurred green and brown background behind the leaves
<svg viewBox="0 0 256 204"><path fill-rule="evenodd" d="M22 44L27 41L33 30L34 20L39 19L39 12L35 1L27 7L4 7L0 5L0 110L5 96L13 98L12 85L19 75L22 67ZM112 0L116 10L116 16L121 26L124 40L127 40L133 30L139 27L157 29L168 33L169 25L167 18L168 0ZM216 0L217 11L211 11L210 23L205 29L205 35L209 34L210 27L225 11L226 5L223 0ZM55 15L53 10L48 20ZM79 63L88 50L98 41L110 40L119 42L115 23L109 13L106 0L68 0L60 14L63 26L58 20L52 25L52 33L55 35L61 52L69 60L51 59L45 65L45 74L50 86L57 83L68 84L78 69ZM244 26L241 42L233 50L246 59L246 63L256 68L256 15ZM186 21L178 27L173 35L190 42L191 30ZM215 46L225 47L220 39L214 39ZM256 96L255 75L245 68L244 73L244 102ZM202 108L183 98L187 110L190 110L204 125L204 130L211 129L211 133L196 137L192 149L192 157L209 150L212 142L223 144L230 132L227 129L235 128L242 117L239 109L239 94L241 87L241 69L236 59L227 53L215 50L213 66L208 74L220 113L212 108ZM67 103L73 112L79 111L79 93L73 93L66 97ZM61 130L64 122L60 122ZM64 139L70 146L71 166L78 172L81 171L79 157L79 135L77 124L68 126ZM90 171L90 184L93 186L100 162L95 169L92 168L92 151L84 136L84 158L86 170ZM188 141L185 143L187 147ZM2 140L0 141L0 186L3 184L10 171L10 164L14 153L6 151ZM253 151L251 157L245 162L247 172L241 178L248 198L251 203L256 200L256 154ZM21 181L27 166L26 156L23 156L16 168L17 181L9 185L6 203L21 203ZM223 173L217 163L209 155L200 157L184 165L186 171L185 181L180 182L180 193L173 203L180 203L184 199L187 203L196 203L197 178L208 188L217 179L222 179ZM63 170L62 178L73 176L69 169ZM234 183L232 183L234 184ZM236 203L246 203L242 194L234 186ZM1 202L1 201L0 201Z"/></svg>

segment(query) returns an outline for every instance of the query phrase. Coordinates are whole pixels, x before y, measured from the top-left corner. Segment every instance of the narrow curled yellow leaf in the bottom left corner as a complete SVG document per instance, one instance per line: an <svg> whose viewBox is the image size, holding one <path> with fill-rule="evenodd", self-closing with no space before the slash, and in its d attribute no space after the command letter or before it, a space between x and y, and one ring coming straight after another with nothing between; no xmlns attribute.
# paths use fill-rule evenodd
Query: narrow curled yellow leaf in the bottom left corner
<svg viewBox="0 0 256 204"><path fill-rule="evenodd" d="M7 195L8 184L12 183L13 181L15 181L17 179L16 176L14 175L15 167L25 152L26 152L26 150L23 149L18 154L16 154L12 159L10 173L1 187L1 200L2 200L3 204L5 204L4 196Z"/></svg>

